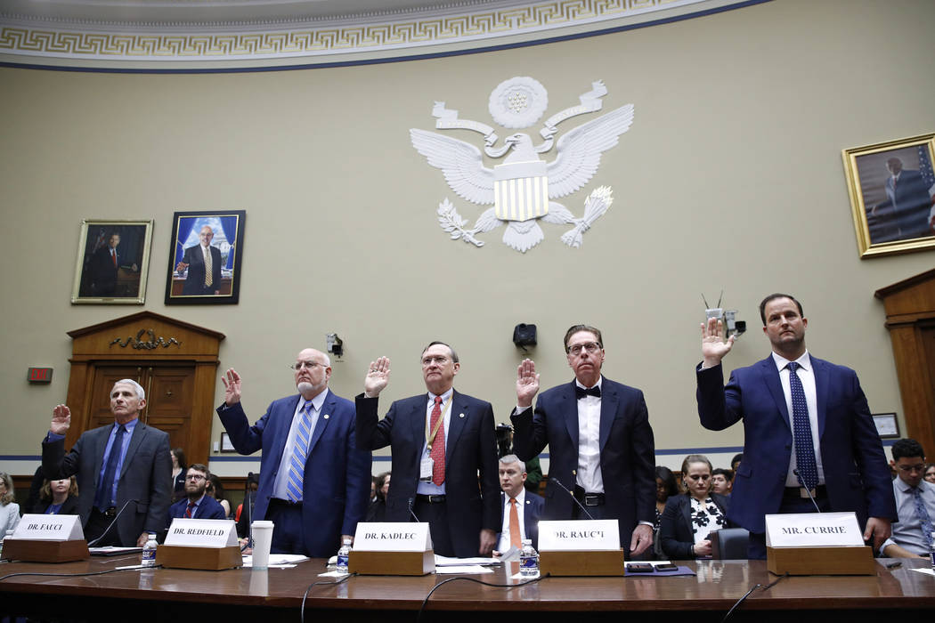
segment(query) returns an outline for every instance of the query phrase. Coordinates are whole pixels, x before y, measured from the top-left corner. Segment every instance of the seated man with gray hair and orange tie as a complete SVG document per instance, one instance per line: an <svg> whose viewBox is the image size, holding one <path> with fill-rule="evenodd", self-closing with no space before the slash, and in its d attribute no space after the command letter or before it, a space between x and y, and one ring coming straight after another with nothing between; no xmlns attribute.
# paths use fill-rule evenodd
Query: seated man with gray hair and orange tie
<svg viewBox="0 0 935 623"><path fill-rule="evenodd" d="M500 458L500 532L496 535L496 554L511 546L522 549L523 540L539 549L539 517L545 507L542 496L525 490L525 464L515 454Z"/></svg>

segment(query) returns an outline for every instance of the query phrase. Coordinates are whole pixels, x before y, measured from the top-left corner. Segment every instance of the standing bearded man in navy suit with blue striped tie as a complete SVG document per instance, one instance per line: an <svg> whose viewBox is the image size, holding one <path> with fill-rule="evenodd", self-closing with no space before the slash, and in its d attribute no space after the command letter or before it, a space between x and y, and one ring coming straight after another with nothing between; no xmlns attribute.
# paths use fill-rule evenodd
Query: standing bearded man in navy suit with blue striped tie
<svg viewBox="0 0 935 623"><path fill-rule="evenodd" d="M328 356L306 348L293 370L298 394L274 401L253 426L240 375L228 370L217 411L237 452L263 449L253 517L275 524L271 551L328 558L367 512L370 451L355 443L351 401L328 389Z"/></svg>

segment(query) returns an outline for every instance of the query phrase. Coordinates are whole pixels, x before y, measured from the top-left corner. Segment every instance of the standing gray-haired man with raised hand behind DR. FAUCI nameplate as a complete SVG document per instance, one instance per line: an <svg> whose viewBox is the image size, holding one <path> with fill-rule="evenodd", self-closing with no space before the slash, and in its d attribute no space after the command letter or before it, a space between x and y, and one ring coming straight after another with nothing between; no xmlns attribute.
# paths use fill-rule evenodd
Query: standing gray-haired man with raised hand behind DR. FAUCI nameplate
<svg viewBox="0 0 935 623"><path fill-rule="evenodd" d="M71 411L65 404L52 411L42 471L50 480L78 476L79 515L88 541L103 536L99 545L141 547L148 532L165 526L172 497L169 436L139 421L145 407L146 393L136 381L117 381L110 391L114 423L82 432L67 454ZM108 530L121 510L116 529Z"/></svg>

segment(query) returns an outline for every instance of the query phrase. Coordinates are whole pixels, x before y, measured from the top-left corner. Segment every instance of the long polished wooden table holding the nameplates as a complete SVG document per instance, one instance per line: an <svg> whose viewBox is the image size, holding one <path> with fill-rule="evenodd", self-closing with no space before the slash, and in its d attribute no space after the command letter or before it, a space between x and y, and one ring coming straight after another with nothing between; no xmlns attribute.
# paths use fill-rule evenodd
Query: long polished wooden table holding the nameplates
<svg viewBox="0 0 935 623"><path fill-rule="evenodd" d="M62 564L4 562L8 573L85 573L137 563L138 555ZM881 620L899 615L935 616L935 577L910 571L923 559L902 559L888 570L881 559L875 575L785 577L767 591L755 592L731 620L784 623L824 618L831 621ZM690 560L680 564L695 576L547 577L524 587L485 587L454 581L440 587L424 621L484 621L511 614L529 620L580 623L619 622L644 615L657 621L719 621L755 584L776 579L763 560ZM320 578L323 559L293 569L192 571L133 570L84 577L22 575L0 581L0 614L87 621L298 621L302 596ZM307 620L414 621L425 595L452 575L421 577L354 576L336 586L309 590ZM513 583L503 569L473 575L484 582ZM790 612L796 611L796 612ZM792 617L792 618L790 618ZM846 617L846 619L845 619Z"/></svg>

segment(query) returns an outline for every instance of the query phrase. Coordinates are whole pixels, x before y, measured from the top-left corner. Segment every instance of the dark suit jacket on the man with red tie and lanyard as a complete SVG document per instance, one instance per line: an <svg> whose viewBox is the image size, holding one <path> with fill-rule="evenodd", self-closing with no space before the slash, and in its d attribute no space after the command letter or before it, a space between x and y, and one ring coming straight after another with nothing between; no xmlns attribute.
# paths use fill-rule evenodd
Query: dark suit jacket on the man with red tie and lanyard
<svg viewBox="0 0 935 623"><path fill-rule="evenodd" d="M410 501L415 499L425 446L428 395L396 401L379 422L377 402L357 396L357 445L374 450L390 446L393 482L386 500L386 521L410 521ZM445 446L448 527L455 555L468 558L478 555L482 529L500 531L494 408L455 391L450 413Z"/></svg>

